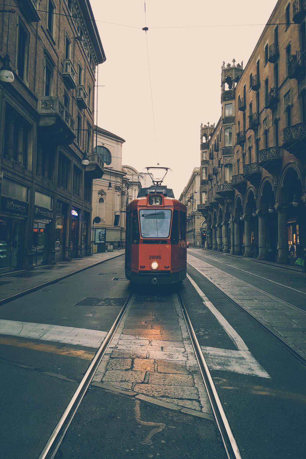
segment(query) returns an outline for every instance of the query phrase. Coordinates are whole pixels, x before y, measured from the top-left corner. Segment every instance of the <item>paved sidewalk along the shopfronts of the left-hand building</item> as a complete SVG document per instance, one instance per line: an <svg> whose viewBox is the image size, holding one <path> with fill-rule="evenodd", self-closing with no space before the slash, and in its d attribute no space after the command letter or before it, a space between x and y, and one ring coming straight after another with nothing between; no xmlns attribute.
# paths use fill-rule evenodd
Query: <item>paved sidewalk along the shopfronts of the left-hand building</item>
<svg viewBox="0 0 306 459"><path fill-rule="evenodd" d="M72 261L62 261L54 265L42 265L31 271L17 271L0 276L0 305L12 301L47 285L79 273L84 269L104 263L112 258L124 255L124 249L115 252L95 253Z"/></svg>

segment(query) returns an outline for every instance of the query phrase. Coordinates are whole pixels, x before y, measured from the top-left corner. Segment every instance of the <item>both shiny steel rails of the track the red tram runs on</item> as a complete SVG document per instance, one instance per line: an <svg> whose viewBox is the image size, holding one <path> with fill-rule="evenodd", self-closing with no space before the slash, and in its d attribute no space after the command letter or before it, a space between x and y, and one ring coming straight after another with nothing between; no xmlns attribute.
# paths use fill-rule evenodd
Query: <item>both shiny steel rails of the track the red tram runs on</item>
<svg viewBox="0 0 306 459"><path fill-rule="evenodd" d="M56 452L60 448L61 442L63 438L65 437L65 434L69 428L69 425L71 424L72 419L74 415L76 414L78 407L80 403L82 402L82 399L90 386L90 383L95 375L95 372L98 366L100 365L102 358L104 357L106 353L107 347L111 343L111 340L114 337L116 330L118 326L120 325L122 318L124 316L124 313L126 312L128 306L130 305L133 296L134 294L131 293L128 299L126 300L126 302L124 303L115 322L111 326L111 329L108 332L105 340L103 341L97 353L95 354L95 357L90 363L89 368L87 369L85 375L83 376L82 381L80 382L76 392L73 394L70 402L67 405L67 408L62 414L61 419L58 421L54 431L52 432L48 442L45 445L45 448L40 453L38 459L53 459L56 456ZM158 295L156 296L158 297ZM202 376L204 385L206 387L206 392L208 395L209 402L211 404L211 409L212 409L214 418L216 420L218 429L220 431L220 434L223 440L223 445L224 445L227 457L228 459L241 459L241 455L239 453L237 443L230 429L228 420L226 418L222 404L218 397L216 387L211 378L208 366L206 364L206 360L203 356L202 350L200 348L200 344L195 335L195 331L189 319L189 315L185 308L184 302L179 293L177 293L177 297L178 297L178 303L182 310L184 323L189 333L189 337L190 337L191 344L192 344L192 347L195 353L195 357L196 357L196 360L200 368L200 374Z"/></svg>

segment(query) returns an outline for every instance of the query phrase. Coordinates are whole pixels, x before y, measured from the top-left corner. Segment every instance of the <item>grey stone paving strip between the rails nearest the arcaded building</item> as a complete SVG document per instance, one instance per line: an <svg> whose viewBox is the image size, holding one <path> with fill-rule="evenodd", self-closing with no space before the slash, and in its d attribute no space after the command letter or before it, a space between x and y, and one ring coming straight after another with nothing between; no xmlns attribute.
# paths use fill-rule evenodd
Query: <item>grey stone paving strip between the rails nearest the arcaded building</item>
<svg viewBox="0 0 306 459"><path fill-rule="evenodd" d="M201 254L194 251L193 253ZM204 252L206 255L206 251ZM214 260L218 256L211 255ZM232 258L230 258L232 262ZM270 296L256 287L249 285L243 280L231 274L225 273L221 269L215 268L209 263L200 260L188 253L187 261L190 266L198 269L208 280L211 280L222 291L224 291L235 302L249 311L256 319L266 325L277 336L283 339L295 351L306 358L306 313L296 309L289 304ZM220 261L220 258L218 259ZM234 264L234 263L233 263ZM239 264L239 263L238 263ZM240 269L242 269L239 264ZM253 265L251 266L253 271ZM252 272L251 271L251 272ZM284 271L286 273L286 271ZM261 267L261 275L265 275ZM279 282L279 278L278 278ZM288 279L287 272L287 282ZM285 285L285 284L283 284ZM300 284L299 284L300 286Z"/></svg>

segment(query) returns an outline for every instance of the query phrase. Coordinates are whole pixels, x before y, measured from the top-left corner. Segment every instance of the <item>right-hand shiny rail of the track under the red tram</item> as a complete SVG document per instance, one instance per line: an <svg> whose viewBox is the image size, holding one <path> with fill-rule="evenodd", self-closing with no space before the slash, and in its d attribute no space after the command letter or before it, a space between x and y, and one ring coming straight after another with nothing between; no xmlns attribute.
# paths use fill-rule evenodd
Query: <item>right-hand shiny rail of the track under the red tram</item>
<svg viewBox="0 0 306 459"><path fill-rule="evenodd" d="M181 306L183 317L184 317L184 320L187 326L187 330L190 336L192 347L195 352L195 357L199 364L200 372L201 372L201 375L202 375L202 378L203 378L203 381L206 387L206 392L207 392L207 395L208 395L208 398L211 404L211 409L214 414L215 420L217 422L218 429L221 433L222 441L223 441L228 459L242 459L240 452L239 452L239 448L236 443L236 440L228 424L228 419L226 417L226 414L224 413L222 403L217 393L217 389L214 385L211 374L209 372L205 357L202 353L199 341L197 340L197 337L195 335L195 330L193 329L193 326L189 319L189 315L186 311L184 302L180 294L177 293L177 295L178 295L178 302Z"/></svg>

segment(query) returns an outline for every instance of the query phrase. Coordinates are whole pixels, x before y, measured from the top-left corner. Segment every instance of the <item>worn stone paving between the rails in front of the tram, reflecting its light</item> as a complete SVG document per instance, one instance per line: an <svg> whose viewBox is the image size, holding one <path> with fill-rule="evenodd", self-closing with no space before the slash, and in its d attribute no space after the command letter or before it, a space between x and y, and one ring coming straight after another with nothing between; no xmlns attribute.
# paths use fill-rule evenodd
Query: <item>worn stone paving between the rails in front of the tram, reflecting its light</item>
<svg viewBox="0 0 306 459"><path fill-rule="evenodd" d="M135 295L95 381L161 406L212 419L211 407L175 294ZM153 402L154 403L154 402Z"/></svg>

